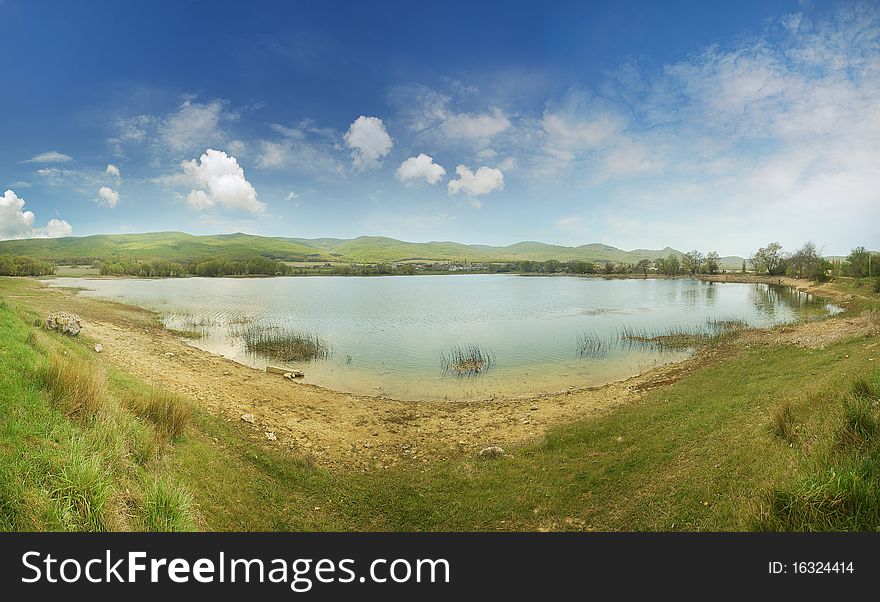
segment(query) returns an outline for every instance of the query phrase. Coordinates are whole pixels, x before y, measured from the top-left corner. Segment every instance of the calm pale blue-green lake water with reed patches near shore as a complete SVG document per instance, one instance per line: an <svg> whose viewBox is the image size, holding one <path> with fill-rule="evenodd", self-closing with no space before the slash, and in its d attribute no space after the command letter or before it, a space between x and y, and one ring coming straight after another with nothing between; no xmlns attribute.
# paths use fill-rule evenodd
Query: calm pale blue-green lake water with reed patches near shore
<svg viewBox="0 0 880 602"><path fill-rule="evenodd" d="M507 275L308 278L58 279L53 286L141 305L166 326L197 330L192 345L263 368L249 354L247 324L315 333L327 360L287 364L306 382L405 399L530 395L637 374L687 351L618 346L584 357L583 332L611 340L623 327L660 334L708 320L767 326L833 310L811 295L765 284L698 280L604 280ZM472 378L444 374L455 345L491 349L496 363Z"/></svg>

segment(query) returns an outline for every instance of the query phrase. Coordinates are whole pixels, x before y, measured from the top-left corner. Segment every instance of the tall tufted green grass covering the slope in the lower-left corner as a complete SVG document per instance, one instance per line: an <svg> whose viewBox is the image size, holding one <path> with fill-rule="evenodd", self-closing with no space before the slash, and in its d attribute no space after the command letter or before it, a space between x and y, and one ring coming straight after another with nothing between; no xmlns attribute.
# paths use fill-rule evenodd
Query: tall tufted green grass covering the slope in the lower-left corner
<svg viewBox="0 0 880 602"><path fill-rule="evenodd" d="M10 282L0 284L14 290ZM35 318L17 303L0 307L0 530L195 524L172 476L152 485L173 446L123 407L91 342L38 329Z"/></svg>

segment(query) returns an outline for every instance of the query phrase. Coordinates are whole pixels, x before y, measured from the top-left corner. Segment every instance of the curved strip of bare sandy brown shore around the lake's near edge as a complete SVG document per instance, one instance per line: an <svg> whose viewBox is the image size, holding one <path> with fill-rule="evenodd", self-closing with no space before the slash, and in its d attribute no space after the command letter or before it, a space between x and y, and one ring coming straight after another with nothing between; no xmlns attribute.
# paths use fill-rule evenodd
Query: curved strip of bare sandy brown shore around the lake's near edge
<svg viewBox="0 0 880 602"><path fill-rule="evenodd" d="M731 352L707 349L622 382L527 399L409 402L339 393L237 364L187 345L165 330L154 313L140 308L49 288L22 300L43 315L56 309L79 314L83 334L102 344L103 361L196 401L254 441L307 455L319 465L355 470L418 466L449 455L477 454L490 445L533 441L553 425L636 402L645 391ZM859 320L838 317L789 326L782 330L783 342L813 345L818 329L826 333L824 344L877 328L876 316ZM778 333L749 331L751 338L743 342L771 343ZM252 424L242 420L245 414L253 415Z"/></svg>

